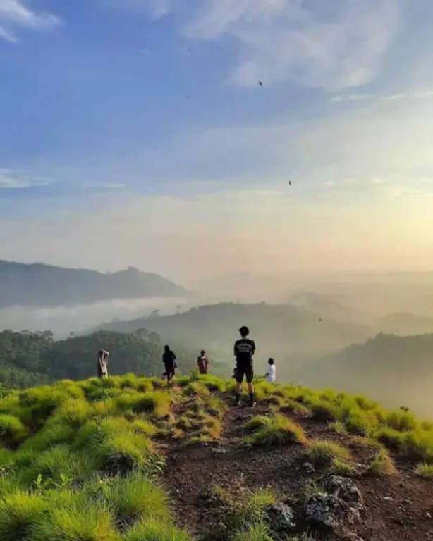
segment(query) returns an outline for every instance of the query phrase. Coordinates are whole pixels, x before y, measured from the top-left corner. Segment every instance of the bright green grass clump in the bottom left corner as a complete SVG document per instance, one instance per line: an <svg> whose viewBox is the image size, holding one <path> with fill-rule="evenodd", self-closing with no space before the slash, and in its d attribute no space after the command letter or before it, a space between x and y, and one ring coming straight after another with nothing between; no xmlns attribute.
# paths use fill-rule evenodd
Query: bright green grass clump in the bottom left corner
<svg viewBox="0 0 433 541"><path fill-rule="evenodd" d="M30 540L32 529L47 511L47 502L38 494L16 490L0 501L1 541Z"/></svg>

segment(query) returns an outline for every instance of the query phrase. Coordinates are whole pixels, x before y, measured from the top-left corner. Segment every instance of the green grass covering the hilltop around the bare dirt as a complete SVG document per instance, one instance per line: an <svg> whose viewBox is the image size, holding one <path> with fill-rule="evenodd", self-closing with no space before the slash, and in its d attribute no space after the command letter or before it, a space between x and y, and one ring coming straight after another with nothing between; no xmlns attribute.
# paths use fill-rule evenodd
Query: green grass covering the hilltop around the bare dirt
<svg viewBox="0 0 433 541"><path fill-rule="evenodd" d="M171 440L178 440L178 449L219 440L233 383L193 374L179 384L171 389L158 378L127 374L6 393L0 399L0 539L190 541L191 534L174 522L160 485L163 451ZM367 473L396 473L392 452L413 461L413 468L418 464L417 475L433 476L432 423L409 412L385 411L364 397L262 380L257 395L265 404L279 400L267 415L239 426L240 445L297 444L315 465L352 473L346 447L307 439L291 418L298 404L312 418L329 419L342 440L374 449ZM305 494L315 490L311 483ZM214 487L201 500L220 516L226 537L219 539L272 540L266 510L281 502L272 490L236 486L233 495Z"/></svg>

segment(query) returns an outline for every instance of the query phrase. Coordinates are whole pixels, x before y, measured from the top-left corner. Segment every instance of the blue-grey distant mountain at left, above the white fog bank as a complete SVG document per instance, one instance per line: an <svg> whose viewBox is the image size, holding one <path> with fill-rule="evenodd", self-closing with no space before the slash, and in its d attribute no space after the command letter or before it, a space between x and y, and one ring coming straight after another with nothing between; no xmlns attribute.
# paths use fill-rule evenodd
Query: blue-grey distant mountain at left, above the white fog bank
<svg viewBox="0 0 433 541"><path fill-rule="evenodd" d="M117 273L0 261L0 308L72 306L111 299L184 297L181 286L129 267Z"/></svg>

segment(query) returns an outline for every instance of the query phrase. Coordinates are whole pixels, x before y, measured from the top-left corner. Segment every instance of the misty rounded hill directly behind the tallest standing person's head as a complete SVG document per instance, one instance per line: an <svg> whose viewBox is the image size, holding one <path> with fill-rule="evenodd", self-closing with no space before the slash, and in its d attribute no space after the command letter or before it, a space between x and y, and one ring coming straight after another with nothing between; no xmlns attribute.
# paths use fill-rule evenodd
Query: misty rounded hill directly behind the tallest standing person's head
<svg viewBox="0 0 433 541"><path fill-rule="evenodd" d="M233 342L240 325L249 325L257 340L257 360L283 356L302 363L335 352L353 342L365 340L373 332L365 325L337 323L297 306L260 304L214 304L200 306L173 316L116 321L102 325L104 330L135 332L146 328L163 340L196 349L212 349L233 359Z"/></svg>

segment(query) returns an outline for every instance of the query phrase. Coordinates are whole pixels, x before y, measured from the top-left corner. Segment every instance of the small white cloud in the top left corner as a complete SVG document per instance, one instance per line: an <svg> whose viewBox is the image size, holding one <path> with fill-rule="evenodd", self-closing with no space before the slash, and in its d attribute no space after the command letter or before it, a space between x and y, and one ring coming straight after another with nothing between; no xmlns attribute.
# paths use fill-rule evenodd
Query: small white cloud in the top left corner
<svg viewBox="0 0 433 541"><path fill-rule="evenodd" d="M35 11L23 0L0 0L0 38L9 42L18 41L19 30L51 30L60 23L56 15Z"/></svg>

